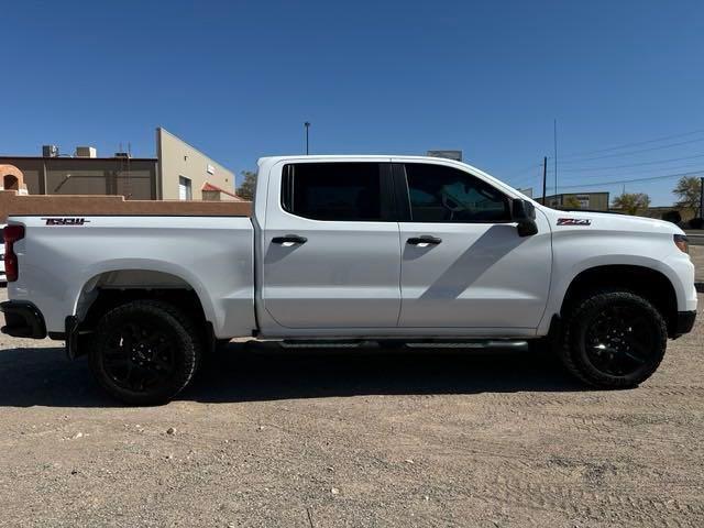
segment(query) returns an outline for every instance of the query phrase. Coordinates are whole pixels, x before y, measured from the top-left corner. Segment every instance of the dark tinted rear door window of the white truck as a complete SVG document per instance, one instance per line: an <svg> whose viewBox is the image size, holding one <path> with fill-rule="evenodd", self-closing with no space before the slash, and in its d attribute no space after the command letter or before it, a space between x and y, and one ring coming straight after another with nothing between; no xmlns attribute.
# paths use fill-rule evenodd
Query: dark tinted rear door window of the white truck
<svg viewBox="0 0 704 528"><path fill-rule="evenodd" d="M381 220L377 163L300 163L284 167L282 205L315 220Z"/></svg>

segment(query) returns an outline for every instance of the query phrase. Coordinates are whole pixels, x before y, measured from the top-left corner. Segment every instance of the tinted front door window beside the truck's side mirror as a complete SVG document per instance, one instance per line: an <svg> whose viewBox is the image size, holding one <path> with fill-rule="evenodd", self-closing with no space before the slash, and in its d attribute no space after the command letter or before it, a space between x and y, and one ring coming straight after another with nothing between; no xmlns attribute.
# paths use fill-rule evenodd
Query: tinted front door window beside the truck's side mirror
<svg viewBox="0 0 704 528"><path fill-rule="evenodd" d="M422 163L406 164L414 222L497 222L510 219L501 191L462 170Z"/></svg>

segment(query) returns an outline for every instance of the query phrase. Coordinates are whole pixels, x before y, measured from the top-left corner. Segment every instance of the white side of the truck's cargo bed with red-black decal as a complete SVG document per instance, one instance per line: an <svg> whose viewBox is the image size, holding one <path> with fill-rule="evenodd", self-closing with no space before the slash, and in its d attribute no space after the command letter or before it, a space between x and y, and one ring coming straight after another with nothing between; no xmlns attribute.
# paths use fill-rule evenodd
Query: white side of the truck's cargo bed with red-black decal
<svg viewBox="0 0 704 528"><path fill-rule="evenodd" d="M216 337L249 336L255 328L254 228L244 215L231 215L245 212L243 204L249 207L175 204L174 213L155 212L158 205L147 213L125 201L86 213L90 205L81 202L59 216L51 208L11 215L9 223L23 224L26 234L14 244L20 273L8 285L10 297L34 302L56 333L66 315L87 309L100 289L185 288L197 293Z"/></svg>

